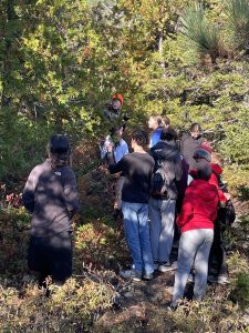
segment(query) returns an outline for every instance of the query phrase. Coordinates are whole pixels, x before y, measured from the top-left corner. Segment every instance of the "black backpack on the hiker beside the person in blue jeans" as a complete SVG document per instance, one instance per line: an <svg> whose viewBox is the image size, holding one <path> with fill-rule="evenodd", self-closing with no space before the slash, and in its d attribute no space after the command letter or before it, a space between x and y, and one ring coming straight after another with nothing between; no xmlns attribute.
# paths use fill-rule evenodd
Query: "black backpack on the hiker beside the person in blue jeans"
<svg viewBox="0 0 249 333"><path fill-rule="evenodd" d="M167 195L168 176L166 171L166 162L158 160L155 164L151 179L152 195Z"/></svg>

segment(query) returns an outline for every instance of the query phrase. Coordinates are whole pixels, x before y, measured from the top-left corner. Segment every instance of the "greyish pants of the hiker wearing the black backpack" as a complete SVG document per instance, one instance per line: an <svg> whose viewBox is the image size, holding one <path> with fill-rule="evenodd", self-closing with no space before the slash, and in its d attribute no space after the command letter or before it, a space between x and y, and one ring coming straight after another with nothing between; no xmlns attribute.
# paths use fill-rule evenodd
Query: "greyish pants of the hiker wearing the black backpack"
<svg viewBox="0 0 249 333"><path fill-rule="evenodd" d="M151 198L148 208L153 259L167 262L174 240L176 201Z"/></svg>

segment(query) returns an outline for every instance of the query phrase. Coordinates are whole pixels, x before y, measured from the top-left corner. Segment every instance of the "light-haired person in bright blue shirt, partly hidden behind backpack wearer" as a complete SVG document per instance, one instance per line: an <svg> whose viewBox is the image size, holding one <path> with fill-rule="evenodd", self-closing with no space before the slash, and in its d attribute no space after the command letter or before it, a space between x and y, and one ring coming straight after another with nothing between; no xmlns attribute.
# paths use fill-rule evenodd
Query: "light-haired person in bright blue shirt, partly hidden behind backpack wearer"
<svg viewBox="0 0 249 333"><path fill-rule="evenodd" d="M167 117L153 114L148 119L148 128L153 130L149 137L149 148L153 148L160 141L160 133L163 129L167 129L170 125L170 120Z"/></svg>

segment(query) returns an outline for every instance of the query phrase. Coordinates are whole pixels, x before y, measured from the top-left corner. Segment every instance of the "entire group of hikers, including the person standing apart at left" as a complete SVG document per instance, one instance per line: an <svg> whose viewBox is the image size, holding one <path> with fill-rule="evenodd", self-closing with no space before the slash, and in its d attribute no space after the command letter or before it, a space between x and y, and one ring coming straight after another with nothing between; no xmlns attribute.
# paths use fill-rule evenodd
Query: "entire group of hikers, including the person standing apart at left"
<svg viewBox="0 0 249 333"><path fill-rule="evenodd" d="M111 128L100 143L110 173L120 174L114 209L122 211L132 256L131 269L120 274L141 281L153 279L155 271L176 270L172 307L183 299L188 280L195 283L194 299L201 300L207 281L228 282L222 225L235 215L228 211L230 194L221 181L219 157L198 123L178 141L170 120L157 114L148 119L149 137L133 131L129 153L122 139L128 120L122 115L123 103L114 94L104 110ZM72 274L70 221L79 196L66 137L53 135L48 152L49 159L31 171L22 196L32 213L28 264L40 273L40 284L48 275L60 284Z"/></svg>

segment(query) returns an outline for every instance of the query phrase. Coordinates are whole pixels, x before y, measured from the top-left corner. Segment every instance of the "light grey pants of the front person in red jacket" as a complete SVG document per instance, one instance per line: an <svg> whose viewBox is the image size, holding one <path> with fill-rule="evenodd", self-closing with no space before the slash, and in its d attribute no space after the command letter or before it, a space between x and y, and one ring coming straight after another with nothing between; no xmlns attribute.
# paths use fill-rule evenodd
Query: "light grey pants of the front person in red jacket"
<svg viewBox="0 0 249 333"><path fill-rule="evenodd" d="M173 291L173 304L184 295L193 262L195 261L194 297L201 300L207 284L208 256L214 239L212 229L194 229L183 232L179 242L179 252L175 284Z"/></svg>

